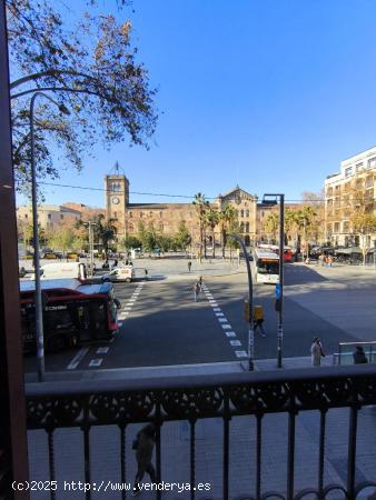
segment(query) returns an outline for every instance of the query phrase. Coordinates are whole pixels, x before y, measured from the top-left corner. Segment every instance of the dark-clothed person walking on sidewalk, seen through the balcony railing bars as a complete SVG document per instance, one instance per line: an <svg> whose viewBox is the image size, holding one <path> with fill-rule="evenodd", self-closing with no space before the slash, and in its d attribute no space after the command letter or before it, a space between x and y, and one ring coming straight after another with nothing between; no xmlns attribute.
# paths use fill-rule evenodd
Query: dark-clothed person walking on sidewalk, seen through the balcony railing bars
<svg viewBox="0 0 376 500"><path fill-rule="evenodd" d="M155 444L156 428L154 423L148 423L137 433L137 439L132 444L137 460L137 474L135 478L132 497L138 497L141 493L140 482L144 479L145 472L150 476L151 482L157 482L156 470L151 463Z"/></svg>

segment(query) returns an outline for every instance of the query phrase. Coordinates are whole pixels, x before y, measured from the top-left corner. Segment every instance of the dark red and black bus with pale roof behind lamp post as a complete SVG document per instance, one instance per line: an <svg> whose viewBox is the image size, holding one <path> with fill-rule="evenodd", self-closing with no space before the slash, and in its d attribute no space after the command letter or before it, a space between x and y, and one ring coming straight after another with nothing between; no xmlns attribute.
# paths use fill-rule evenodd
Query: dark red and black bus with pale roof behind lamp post
<svg viewBox="0 0 376 500"><path fill-rule="evenodd" d="M23 352L36 352L34 281L20 282ZM76 279L41 281L46 352L109 341L118 331L113 284Z"/></svg>

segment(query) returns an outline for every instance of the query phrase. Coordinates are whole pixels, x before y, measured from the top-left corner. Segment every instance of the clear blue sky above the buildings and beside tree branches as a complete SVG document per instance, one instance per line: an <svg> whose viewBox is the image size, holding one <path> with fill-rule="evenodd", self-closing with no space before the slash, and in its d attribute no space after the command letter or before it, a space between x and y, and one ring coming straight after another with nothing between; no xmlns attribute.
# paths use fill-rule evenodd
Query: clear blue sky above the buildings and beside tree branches
<svg viewBox="0 0 376 500"><path fill-rule="evenodd" d="M297 200L376 144L374 0L133 0L117 16L159 89L151 149L98 146L60 183L102 188L118 160L131 191L216 197L238 183ZM103 206L98 191L44 189L51 203Z"/></svg>

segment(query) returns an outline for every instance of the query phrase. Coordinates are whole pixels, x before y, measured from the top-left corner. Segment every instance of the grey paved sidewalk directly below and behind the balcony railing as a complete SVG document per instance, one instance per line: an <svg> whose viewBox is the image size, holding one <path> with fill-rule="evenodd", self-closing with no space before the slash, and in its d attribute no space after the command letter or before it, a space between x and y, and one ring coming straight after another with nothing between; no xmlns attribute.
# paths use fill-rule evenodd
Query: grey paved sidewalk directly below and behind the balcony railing
<svg viewBox="0 0 376 500"><path fill-rule="evenodd" d="M329 360L328 360L329 362ZM275 360L256 361L258 370L275 369ZM286 368L310 367L309 358L284 360ZM176 374L212 374L239 372L238 362L180 367L155 367L122 370L97 370L81 372L82 380L103 378L145 378L150 376L174 377ZM319 368L318 368L319 370ZM326 429L325 483L346 483L346 453L348 439L348 410L329 410ZM365 408L358 416L357 481L376 479L374 463L376 449L373 437L376 431L376 411ZM127 481L136 474L132 439L139 424L127 428L126 468ZM287 432L286 414L268 414L263 419L263 492L286 490ZM197 499L221 500L222 491L222 420L206 419L196 424L196 484L209 483L210 491L196 491ZM319 414L305 411L296 420L296 490L317 486ZM189 483L190 427L187 421L166 422L161 429L162 480ZM85 481L83 438L79 429L59 429L55 432L57 480ZM230 421L230 499L255 494L256 421L254 417L236 417ZM103 426L90 430L91 481L120 482L119 430ZM48 479L48 442L43 431L29 431L30 480ZM148 478L145 478L148 481ZM48 492L33 492L32 499L48 499ZM58 490L58 499L83 499L83 492ZM119 492L92 492L93 499L120 499ZM129 494L127 496L129 498ZM142 500L151 500L155 493L144 491ZM189 491L164 492L167 500L188 500Z"/></svg>

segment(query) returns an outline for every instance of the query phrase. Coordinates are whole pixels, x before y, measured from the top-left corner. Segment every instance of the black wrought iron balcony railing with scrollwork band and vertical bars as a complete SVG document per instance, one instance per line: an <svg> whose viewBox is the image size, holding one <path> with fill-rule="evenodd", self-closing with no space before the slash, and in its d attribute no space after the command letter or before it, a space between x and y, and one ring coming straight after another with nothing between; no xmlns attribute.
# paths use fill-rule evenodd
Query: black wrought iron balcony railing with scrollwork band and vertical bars
<svg viewBox="0 0 376 500"><path fill-rule="evenodd" d="M120 429L119 462L121 480L126 481L126 430L136 422L155 422L157 427L157 478L161 481L162 424L186 420L190 428L190 480L196 477L196 424L200 419L222 420L222 496L229 497L230 422L239 416L256 418L255 491L241 499L303 499L315 494L324 499L338 490L355 499L365 488L376 483L355 483L357 416L364 406L376 404L376 367L336 367L222 376L177 377L142 381L59 382L27 386L28 428L44 429L49 443L50 479L56 477L53 432L59 428L80 428L83 434L85 478L90 482L90 429L95 426L117 426ZM347 483L325 484L326 416L334 408L349 408ZM306 410L318 410L319 457L317 484L296 491L295 448L296 417ZM263 491L263 419L268 413L288 416L288 449L286 489ZM374 439L374 437L373 437ZM157 498L162 498L160 491ZM91 491L86 493L91 498ZM51 498L55 492L51 491ZM126 498L126 492L122 492ZM197 498L197 492L190 492ZM208 497L206 497L208 498ZM239 499L240 500L240 499Z"/></svg>

